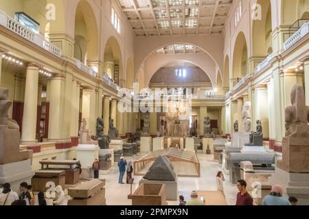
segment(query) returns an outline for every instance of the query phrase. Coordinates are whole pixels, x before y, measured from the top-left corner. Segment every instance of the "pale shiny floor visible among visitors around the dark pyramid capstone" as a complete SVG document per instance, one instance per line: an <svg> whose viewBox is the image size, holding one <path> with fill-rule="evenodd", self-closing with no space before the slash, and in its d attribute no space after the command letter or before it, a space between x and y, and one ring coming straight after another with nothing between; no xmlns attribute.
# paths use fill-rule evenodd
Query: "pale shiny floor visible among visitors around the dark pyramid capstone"
<svg viewBox="0 0 309 219"><path fill-rule="evenodd" d="M138 157L127 158L127 161L135 160ZM213 155L198 154L198 159L201 162L201 177L200 178L178 178L179 194L185 197L185 200L190 199L192 190L216 190L216 174L221 170L218 162L214 162ZM130 194L130 185L118 183L117 165L114 165L110 173L107 175L100 175L100 179L106 179L106 203L107 205L131 205L132 202L128 200ZM134 177L133 192L139 187L139 180L141 177ZM228 205L236 204L237 188L229 183L229 176L226 175L227 180L224 183L225 195ZM124 177L124 181L126 176ZM178 205L177 201L168 201L169 205Z"/></svg>

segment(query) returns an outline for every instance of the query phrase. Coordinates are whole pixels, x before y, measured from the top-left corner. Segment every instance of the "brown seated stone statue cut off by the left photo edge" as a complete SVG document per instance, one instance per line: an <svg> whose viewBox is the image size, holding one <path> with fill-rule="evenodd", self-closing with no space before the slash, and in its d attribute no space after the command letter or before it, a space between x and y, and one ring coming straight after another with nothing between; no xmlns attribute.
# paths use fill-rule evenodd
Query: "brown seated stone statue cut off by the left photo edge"
<svg viewBox="0 0 309 219"><path fill-rule="evenodd" d="M8 89L0 88L0 165L21 162L30 158L29 151L21 151L19 125L8 117L12 101Z"/></svg>

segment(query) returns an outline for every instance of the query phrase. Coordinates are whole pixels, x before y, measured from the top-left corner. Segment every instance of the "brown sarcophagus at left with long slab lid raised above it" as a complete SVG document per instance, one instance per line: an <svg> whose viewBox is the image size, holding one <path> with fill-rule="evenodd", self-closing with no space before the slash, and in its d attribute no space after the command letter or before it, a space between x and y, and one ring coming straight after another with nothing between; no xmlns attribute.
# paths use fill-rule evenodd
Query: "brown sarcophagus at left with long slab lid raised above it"
<svg viewBox="0 0 309 219"><path fill-rule="evenodd" d="M80 169L71 169L72 165L80 164L77 160L46 159L40 162L42 170L65 170L65 184L76 185L80 181ZM44 168L46 166L46 168ZM69 166L68 168L50 168L49 166Z"/></svg>

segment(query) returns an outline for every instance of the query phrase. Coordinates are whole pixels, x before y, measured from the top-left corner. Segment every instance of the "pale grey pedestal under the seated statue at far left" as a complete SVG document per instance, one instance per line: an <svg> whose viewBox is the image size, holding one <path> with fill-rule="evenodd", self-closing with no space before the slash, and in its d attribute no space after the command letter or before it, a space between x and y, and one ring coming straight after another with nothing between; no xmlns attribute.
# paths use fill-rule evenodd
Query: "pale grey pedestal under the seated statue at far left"
<svg viewBox="0 0 309 219"><path fill-rule="evenodd" d="M26 182L31 185L34 171L31 167L31 159L0 165L0 184L10 183L14 192L19 192L19 185Z"/></svg>

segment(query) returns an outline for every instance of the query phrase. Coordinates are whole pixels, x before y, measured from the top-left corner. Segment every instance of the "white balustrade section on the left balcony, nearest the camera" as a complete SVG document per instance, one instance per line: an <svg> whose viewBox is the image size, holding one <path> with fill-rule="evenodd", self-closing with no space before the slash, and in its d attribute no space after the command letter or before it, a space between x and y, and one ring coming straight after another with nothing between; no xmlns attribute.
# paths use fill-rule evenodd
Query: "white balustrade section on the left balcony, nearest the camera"
<svg viewBox="0 0 309 219"><path fill-rule="evenodd" d="M43 36L34 33L30 29L27 29L27 27L21 25L21 23L15 21L13 18L10 18L10 16L5 14L5 12L1 10L0 10L0 25L10 29L15 34L18 34L19 36L25 38L26 40L33 42L34 44L48 51L49 53L61 57L62 53L61 49L56 47L54 44L47 42L43 38Z"/></svg>

